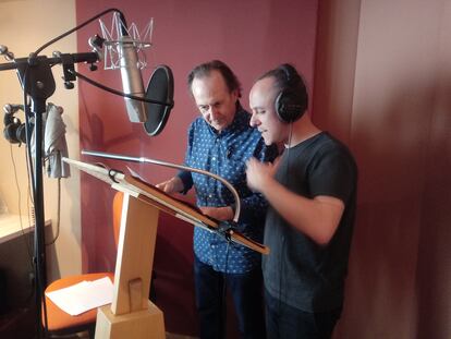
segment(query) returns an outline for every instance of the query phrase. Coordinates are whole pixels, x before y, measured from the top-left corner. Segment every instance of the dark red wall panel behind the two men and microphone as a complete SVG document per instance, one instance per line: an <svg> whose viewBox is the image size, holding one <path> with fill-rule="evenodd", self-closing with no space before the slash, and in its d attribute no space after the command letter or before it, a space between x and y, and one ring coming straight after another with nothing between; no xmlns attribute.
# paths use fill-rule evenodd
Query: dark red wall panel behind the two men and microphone
<svg viewBox="0 0 451 339"><path fill-rule="evenodd" d="M81 148L181 164L188 123L197 116L185 78L196 64L221 59L239 75L243 85L242 104L247 107L253 80L282 62L291 62L313 88L317 1L76 1L77 23L108 9L120 9L129 24L143 28L154 17L154 46L147 52L149 68L143 71L147 83L153 66L168 64L174 74L175 107L162 133L149 137L139 124L129 122L123 100L82 81L80 88ZM110 15L103 17L109 25ZM100 33L97 22L78 32L78 51L87 51L88 37ZM94 80L121 89L119 71L90 73ZM129 165L151 183L173 170L83 157L125 169ZM82 175L82 246L84 271L112 270L114 244L111 232L112 190ZM190 196L192 198L192 195ZM196 316L192 277L192 226L161 216L154 268L157 273L157 304L163 310L167 329L195 334Z"/></svg>

